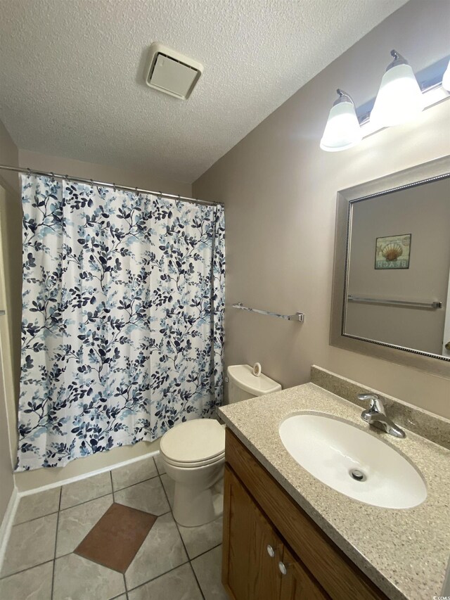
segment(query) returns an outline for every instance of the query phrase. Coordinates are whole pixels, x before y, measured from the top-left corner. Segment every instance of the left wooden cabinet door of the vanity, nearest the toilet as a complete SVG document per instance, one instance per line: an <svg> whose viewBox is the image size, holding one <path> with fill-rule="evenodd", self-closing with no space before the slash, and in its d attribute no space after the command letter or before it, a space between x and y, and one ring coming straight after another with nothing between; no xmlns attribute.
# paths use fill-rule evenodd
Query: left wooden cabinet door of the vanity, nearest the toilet
<svg viewBox="0 0 450 600"><path fill-rule="evenodd" d="M222 582L235 600L279 600L283 544L236 475L225 467ZM271 556L272 555L272 556Z"/></svg>

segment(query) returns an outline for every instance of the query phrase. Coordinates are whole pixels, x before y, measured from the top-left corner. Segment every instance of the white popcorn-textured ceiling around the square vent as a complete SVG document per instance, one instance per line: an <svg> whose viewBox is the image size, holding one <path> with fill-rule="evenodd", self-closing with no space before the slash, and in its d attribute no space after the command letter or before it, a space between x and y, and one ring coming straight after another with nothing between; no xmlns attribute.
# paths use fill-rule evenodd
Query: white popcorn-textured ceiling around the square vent
<svg viewBox="0 0 450 600"><path fill-rule="evenodd" d="M200 176L406 0L0 0L0 119L20 148ZM148 46L205 65L188 101Z"/></svg>

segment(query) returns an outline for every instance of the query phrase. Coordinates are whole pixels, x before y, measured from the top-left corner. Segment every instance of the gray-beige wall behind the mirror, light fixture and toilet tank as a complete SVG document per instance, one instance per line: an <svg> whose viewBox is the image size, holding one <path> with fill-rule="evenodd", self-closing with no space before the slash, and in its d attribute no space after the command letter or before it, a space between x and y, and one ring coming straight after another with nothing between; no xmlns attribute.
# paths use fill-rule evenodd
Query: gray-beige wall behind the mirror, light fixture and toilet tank
<svg viewBox="0 0 450 600"><path fill-rule="evenodd" d="M448 54L450 5L410 1L256 127L193 184L226 207L226 364L259 361L283 387L309 381L311 364L450 417L450 381L331 347L336 192L450 151L450 101L410 125L326 153L319 140L335 89L356 106L373 98L390 50L420 70ZM300 325L231 309L233 302L289 314Z"/></svg>

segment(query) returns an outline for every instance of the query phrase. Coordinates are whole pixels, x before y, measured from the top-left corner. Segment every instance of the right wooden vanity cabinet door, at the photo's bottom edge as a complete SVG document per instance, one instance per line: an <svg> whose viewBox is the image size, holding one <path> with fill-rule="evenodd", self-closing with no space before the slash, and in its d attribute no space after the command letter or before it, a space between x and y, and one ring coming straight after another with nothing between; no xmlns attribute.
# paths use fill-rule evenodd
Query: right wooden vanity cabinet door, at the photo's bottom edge
<svg viewBox="0 0 450 600"><path fill-rule="evenodd" d="M280 600L324 600L330 596L323 591L316 580L307 573L302 563L284 547L281 570Z"/></svg>

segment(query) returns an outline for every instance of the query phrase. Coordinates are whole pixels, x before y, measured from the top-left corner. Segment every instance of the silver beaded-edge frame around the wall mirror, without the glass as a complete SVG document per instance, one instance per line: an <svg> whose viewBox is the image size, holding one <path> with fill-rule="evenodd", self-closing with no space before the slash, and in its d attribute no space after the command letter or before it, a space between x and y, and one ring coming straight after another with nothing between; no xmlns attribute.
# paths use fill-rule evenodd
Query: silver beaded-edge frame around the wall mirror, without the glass
<svg viewBox="0 0 450 600"><path fill-rule="evenodd" d="M345 296L347 295L347 253L352 233L352 203L363 198L381 196L395 189L423 185L433 181L433 179L441 179L442 177L450 177L450 155L338 191L330 345L450 378L450 359L447 357L439 357L439 355L432 355L428 352L359 338L344 333Z"/></svg>

